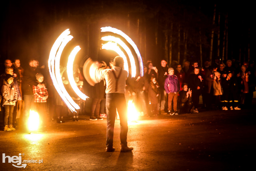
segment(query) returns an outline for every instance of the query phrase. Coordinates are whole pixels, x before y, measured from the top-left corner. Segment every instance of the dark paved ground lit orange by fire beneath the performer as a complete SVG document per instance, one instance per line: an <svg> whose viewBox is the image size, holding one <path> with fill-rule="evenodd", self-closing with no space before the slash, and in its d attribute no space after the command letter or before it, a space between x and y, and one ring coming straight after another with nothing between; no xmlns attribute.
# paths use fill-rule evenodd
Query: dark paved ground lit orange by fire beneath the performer
<svg viewBox="0 0 256 171"><path fill-rule="evenodd" d="M5 156L43 160L24 169L6 158L0 170L253 170L255 113L254 108L141 117L129 122L128 145L134 150L127 153L120 153L119 120L113 153L105 152L106 119L52 122L32 135L0 131Z"/></svg>

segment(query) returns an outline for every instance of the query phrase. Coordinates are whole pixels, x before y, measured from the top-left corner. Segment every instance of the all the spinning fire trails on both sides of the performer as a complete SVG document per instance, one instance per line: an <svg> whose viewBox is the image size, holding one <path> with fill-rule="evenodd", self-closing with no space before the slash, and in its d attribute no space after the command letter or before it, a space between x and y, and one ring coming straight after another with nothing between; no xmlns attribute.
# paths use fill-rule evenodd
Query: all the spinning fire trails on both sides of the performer
<svg viewBox="0 0 256 171"><path fill-rule="evenodd" d="M102 27L101 32L104 33L105 35L108 34L101 38L102 41L106 42L102 44L102 49L113 50L117 54L119 54L125 61L124 69L129 71L129 74L131 74L131 77L143 76L142 58L137 46L132 41L132 39L126 34L124 34L122 31L112 27ZM111 34L118 35L118 37L113 36ZM72 40L72 38L73 36L70 35L69 29L61 33L61 35L57 38L57 40L52 46L52 49L49 55L49 60L48 60L48 67L49 67L50 76L55 89L57 90L57 92L59 93L60 97L65 102L65 104L68 106L68 108L72 112L76 112L76 110L80 109L80 107L77 105L77 103L74 102L74 100L71 98L71 96L65 89L62 82L61 75L60 75L60 57L63 49L65 48L67 43ZM74 81L74 77L73 77L73 62L76 54L80 49L81 48L79 46L76 46L70 53L68 57L68 63L67 63L67 73L68 73L69 83L72 89L74 90L74 92L81 99L86 100L88 96L86 96L86 94L82 93L77 88L76 83ZM127 54L128 58L125 54ZM90 74L95 70L95 67L96 65L91 59L88 59L83 66L83 75L88 81L88 83L91 85L94 85L96 83L94 78L91 77L91 74Z"/></svg>

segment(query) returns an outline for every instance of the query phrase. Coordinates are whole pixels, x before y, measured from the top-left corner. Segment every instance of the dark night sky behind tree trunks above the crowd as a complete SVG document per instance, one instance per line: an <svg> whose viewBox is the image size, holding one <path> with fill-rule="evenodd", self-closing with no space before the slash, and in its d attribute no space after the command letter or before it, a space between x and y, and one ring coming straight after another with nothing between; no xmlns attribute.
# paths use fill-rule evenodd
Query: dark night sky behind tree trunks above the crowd
<svg viewBox="0 0 256 171"><path fill-rule="evenodd" d="M44 64L48 61L54 41L68 28L74 38L65 48L62 57L65 58L74 46L80 45L82 49L77 55L78 63L85 56L105 60L115 54L99 50L100 28L112 26L130 36L138 46L143 60L152 60L153 63L160 63L159 60L166 59L166 52L168 52L166 60L169 60L170 42L172 60L178 60L179 41L180 63L184 58L199 61L200 29L202 58L205 61L209 59L212 29L214 29L212 58L217 57L219 26L222 55L226 16L227 58L241 59L241 62L248 61L248 47L250 47L250 59L254 59L255 15L252 5L246 1L240 4L216 2L216 18L213 25L214 5L215 2L205 1L7 1L5 5L1 5L0 60L2 62L7 58L19 58L23 64L23 61L36 58L40 64ZM220 25L218 25L219 13ZM173 24L172 30L171 24ZM180 40L178 30L180 30ZM186 55L184 55L186 38L184 33L187 34ZM165 48L165 35L168 35L168 50Z"/></svg>

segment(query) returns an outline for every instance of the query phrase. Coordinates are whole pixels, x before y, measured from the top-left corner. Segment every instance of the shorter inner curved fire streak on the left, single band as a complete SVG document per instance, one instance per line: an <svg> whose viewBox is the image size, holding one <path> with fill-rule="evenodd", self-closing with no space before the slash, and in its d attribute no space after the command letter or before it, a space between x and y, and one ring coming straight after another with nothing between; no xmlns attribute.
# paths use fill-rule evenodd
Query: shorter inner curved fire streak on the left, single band
<svg viewBox="0 0 256 171"><path fill-rule="evenodd" d="M86 96L84 93L82 93L79 88L76 85L76 82L74 80L74 76L73 76L73 63L74 63L74 59L76 54L78 53L78 51L80 51L80 47L76 46L72 52L70 53L69 57L68 57L68 64L67 64L67 73L68 73L68 80L69 83L71 85L71 87L73 88L74 92L83 100L86 100L88 98L88 96Z"/></svg>

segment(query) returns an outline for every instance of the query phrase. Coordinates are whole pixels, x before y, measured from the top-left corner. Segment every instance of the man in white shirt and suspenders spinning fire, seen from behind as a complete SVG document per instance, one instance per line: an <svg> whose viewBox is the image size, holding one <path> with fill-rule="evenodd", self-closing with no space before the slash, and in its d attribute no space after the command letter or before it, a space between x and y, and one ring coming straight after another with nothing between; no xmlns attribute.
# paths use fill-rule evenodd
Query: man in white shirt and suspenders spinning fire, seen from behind
<svg viewBox="0 0 256 171"><path fill-rule="evenodd" d="M87 60L89 63L91 60ZM85 64L85 69L89 69L89 64ZM92 72L92 67L94 70ZM112 69L98 68L95 64L90 66L90 77L85 74L87 81L94 85L101 80L106 80L106 113L107 113L107 138L106 138L106 151L112 152L115 150L113 147L113 135L116 110L120 117L120 139L121 139L121 152L131 151L132 147L127 147L127 106L125 102L125 82L128 72L123 70L124 60L121 56L114 58L114 67ZM94 72L95 71L95 72Z"/></svg>

